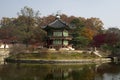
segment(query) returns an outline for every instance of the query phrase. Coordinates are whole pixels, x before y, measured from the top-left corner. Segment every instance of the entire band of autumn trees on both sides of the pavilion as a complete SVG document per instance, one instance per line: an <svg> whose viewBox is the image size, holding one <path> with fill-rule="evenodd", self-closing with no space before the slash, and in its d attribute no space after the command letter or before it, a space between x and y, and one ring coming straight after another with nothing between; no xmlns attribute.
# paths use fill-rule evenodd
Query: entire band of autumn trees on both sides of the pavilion
<svg viewBox="0 0 120 80"><path fill-rule="evenodd" d="M120 47L119 28L105 30L103 22L96 17L84 18L66 14L61 14L60 17L70 25L70 35L73 37L70 43L76 49L102 47L111 50ZM0 20L0 40L26 45L44 45L47 33L43 27L55 19L55 15L40 17L39 11L25 6L18 12L17 18L3 17Z"/></svg>

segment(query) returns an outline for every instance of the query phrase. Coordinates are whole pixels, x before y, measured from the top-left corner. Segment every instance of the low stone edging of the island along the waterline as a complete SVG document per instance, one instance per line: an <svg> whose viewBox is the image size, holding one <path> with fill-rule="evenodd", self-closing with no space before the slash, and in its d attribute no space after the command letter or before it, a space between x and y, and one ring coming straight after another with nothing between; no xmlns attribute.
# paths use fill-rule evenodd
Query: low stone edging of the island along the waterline
<svg viewBox="0 0 120 80"><path fill-rule="evenodd" d="M63 64L63 63L79 63L79 64L90 64L90 63L107 63L111 62L110 58L99 58L99 59L73 59L73 60L45 60L45 59L5 59L7 63L31 63L31 64Z"/></svg>

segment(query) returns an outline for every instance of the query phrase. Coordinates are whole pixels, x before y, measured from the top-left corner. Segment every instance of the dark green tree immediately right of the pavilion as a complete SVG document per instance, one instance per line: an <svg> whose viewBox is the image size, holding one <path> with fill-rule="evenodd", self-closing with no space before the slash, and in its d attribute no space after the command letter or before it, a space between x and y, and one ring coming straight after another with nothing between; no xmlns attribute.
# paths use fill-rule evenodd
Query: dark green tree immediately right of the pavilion
<svg viewBox="0 0 120 80"><path fill-rule="evenodd" d="M89 44L89 39L82 35L82 30L84 29L84 18L76 18L73 19L71 24L74 25L72 31L72 37L74 37L71 41L76 48L86 47Z"/></svg>

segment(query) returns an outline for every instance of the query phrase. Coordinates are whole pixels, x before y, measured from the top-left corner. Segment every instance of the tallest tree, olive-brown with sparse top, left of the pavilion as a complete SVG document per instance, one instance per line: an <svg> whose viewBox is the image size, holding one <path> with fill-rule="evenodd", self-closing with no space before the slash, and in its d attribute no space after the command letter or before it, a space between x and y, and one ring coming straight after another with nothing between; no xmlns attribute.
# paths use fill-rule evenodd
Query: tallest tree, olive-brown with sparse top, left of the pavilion
<svg viewBox="0 0 120 80"><path fill-rule="evenodd" d="M16 36L28 46L34 36L35 28L39 26L37 21L39 19L39 11L34 11L32 8L25 6L18 14L19 16L15 21L17 26Z"/></svg>

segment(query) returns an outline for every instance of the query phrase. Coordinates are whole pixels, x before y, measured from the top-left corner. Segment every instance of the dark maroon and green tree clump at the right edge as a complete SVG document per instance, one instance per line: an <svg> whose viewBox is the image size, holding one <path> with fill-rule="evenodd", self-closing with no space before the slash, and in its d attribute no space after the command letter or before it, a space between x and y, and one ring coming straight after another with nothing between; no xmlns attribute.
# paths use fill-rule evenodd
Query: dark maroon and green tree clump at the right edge
<svg viewBox="0 0 120 80"><path fill-rule="evenodd" d="M112 54L118 53L120 49L120 32L118 28L109 28L103 34L98 34L93 38L93 46L111 51Z"/></svg>

